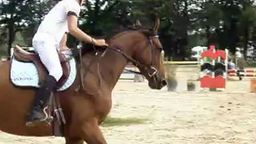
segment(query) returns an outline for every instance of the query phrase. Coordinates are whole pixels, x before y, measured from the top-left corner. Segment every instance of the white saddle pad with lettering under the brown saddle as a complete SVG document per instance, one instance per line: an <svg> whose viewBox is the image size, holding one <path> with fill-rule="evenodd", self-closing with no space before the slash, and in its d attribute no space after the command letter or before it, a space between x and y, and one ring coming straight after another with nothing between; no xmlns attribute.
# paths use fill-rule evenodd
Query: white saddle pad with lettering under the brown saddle
<svg viewBox="0 0 256 144"><path fill-rule="evenodd" d="M70 63L70 74L65 84L60 87L57 91L64 91L69 88L75 81L77 75L75 59L71 59ZM39 77L38 71L34 63L19 62L14 57L12 59L10 78L14 85L20 87L36 87L38 85Z"/></svg>

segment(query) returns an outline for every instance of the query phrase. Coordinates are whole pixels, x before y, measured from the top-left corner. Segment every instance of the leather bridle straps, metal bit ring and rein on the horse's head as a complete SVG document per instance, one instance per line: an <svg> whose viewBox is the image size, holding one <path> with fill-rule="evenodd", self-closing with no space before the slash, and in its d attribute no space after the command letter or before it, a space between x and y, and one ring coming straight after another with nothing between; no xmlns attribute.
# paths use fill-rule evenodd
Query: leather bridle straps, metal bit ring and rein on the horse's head
<svg viewBox="0 0 256 144"><path fill-rule="evenodd" d="M144 64L141 64L140 62L138 62L137 60L133 59L131 56L128 56L126 53L124 53L124 51L122 51L120 48L112 48L112 47L109 47L108 49L112 49L120 54L122 54L122 56L124 56L128 62L131 62L134 66L136 66L137 68L140 68L140 69L144 69L146 71L146 75L144 75L147 79L149 78L152 78L154 75L156 75L157 73L157 69L153 66L153 62L154 62L154 59L153 59L153 56L154 56L154 45L153 45L153 39L154 38L158 38L159 35L153 35L153 36L149 36L148 37L148 40L149 40L149 43L150 43L150 48L151 48L151 62L150 62L150 67L144 65ZM145 48L144 48L145 49ZM140 74L140 75L143 75L142 72L136 72L136 71L132 71L132 70L127 70L125 69L126 71L129 71L129 72L133 72L133 73L137 73L137 74Z"/></svg>

